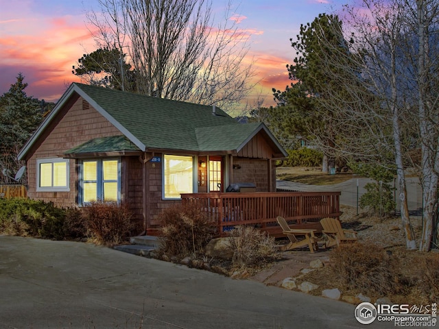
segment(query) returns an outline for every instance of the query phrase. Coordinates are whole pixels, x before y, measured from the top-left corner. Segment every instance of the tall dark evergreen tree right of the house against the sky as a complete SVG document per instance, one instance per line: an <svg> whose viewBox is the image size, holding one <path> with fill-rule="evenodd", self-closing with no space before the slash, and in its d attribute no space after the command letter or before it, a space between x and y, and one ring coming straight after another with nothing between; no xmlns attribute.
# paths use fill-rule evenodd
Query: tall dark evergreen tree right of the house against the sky
<svg viewBox="0 0 439 329"><path fill-rule="evenodd" d="M320 42L322 39L330 40L329 44ZM333 56L334 49L348 52L348 42L342 33L342 22L337 16L327 14L320 14L311 24L301 25L297 40L290 41L296 50L294 64L287 65L293 82L284 91L273 90L278 114L284 118L285 131L292 137L315 141L324 154L322 167L327 172L328 161L335 160L336 156L333 150L337 132L333 127L337 117L317 99L328 97L333 90L342 93L334 75L327 72L336 72L337 66L351 64L340 63L339 58Z"/></svg>

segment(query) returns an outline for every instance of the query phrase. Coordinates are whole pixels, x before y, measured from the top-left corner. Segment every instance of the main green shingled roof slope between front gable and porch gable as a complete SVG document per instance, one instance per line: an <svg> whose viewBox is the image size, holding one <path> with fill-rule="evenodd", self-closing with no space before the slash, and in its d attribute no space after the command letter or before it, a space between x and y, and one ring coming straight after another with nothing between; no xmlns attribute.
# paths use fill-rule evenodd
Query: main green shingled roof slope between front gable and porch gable
<svg viewBox="0 0 439 329"><path fill-rule="evenodd" d="M241 127L226 112L211 106L124 93L85 84L76 84L96 104L134 135L147 149L198 151L196 128ZM228 139L224 134L222 138Z"/></svg>

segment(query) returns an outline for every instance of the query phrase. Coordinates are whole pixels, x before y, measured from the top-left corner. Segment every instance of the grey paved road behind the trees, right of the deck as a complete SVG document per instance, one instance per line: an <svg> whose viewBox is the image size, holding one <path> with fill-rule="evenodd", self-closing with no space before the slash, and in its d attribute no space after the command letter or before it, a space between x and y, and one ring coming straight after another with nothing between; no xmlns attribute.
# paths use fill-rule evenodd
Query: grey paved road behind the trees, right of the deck
<svg viewBox="0 0 439 329"><path fill-rule="evenodd" d="M409 210L416 215L420 215L422 209L422 189L418 178L406 178L407 181L407 200ZM276 186L278 188L285 188L292 191L341 191L340 204L346 206L357 206L357 198L366 193L364 185L372 182L369 178L352 178L339 184L316 186L309 184L302 184L297 182L288 182L285 180L277 180ZM392 186L394 186L392 184ZM358 188L357 188L358 187ZM399 191L395 193L396 209L399 210Z"/></svg>

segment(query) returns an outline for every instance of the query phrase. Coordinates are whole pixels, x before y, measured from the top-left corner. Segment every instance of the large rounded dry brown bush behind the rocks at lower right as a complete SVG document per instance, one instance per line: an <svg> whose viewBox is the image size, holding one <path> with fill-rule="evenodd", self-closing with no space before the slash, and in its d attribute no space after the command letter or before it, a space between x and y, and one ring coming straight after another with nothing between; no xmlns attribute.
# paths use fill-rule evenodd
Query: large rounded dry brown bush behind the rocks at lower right
<svg viewBox="0 0 439 329"><path fill-rule="evenodd" d="M330 254L329 271L348 290L387 295L401 291L399 260L374 244L340 245Z"/></svg>

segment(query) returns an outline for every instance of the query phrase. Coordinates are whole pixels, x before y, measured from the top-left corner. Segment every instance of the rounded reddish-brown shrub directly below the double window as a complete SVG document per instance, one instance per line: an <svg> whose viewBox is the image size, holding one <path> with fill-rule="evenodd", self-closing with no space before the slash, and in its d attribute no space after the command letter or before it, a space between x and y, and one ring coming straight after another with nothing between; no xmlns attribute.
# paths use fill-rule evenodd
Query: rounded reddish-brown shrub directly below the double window
<svg viewBox="0 0 439 329"><path fill-rule="evenodd" d="M88 232L97 243L121 243L132 230L132 213L126 204L92 202L82 208Z"/></svg>

